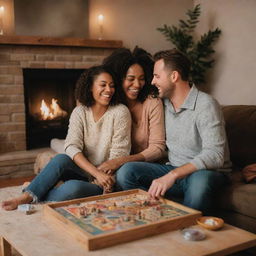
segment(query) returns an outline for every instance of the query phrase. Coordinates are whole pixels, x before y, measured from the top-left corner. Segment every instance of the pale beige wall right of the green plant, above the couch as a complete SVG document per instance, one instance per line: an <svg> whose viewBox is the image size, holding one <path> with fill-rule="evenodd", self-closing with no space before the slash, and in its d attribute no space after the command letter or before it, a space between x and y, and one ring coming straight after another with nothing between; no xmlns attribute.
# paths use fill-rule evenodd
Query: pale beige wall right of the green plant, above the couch
<svg viewBox="0 0 256 256"><path fill-rule="evenodd" d="M202 15L198 33L219 27L216 63L209 72L212 95L225 105L256 104L256 1L196 0Z"/></svg>

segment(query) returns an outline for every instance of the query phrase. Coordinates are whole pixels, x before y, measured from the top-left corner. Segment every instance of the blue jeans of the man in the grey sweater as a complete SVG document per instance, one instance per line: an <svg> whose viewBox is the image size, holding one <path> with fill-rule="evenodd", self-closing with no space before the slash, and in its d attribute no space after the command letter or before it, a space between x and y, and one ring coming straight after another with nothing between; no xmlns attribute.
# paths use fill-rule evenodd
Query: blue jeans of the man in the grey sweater
<svg viewBox="0 0 256 256"><path fill-rule="evenodd" d="M131 162L124 164L116 173L117 186L123 190L140 188L148 190L152 181L176 167L165 164ZM169 199L183 197L183 204L209 214L219 188L228 181L225 174L214 170L198 170L176 180L166 191Z"/></svg>

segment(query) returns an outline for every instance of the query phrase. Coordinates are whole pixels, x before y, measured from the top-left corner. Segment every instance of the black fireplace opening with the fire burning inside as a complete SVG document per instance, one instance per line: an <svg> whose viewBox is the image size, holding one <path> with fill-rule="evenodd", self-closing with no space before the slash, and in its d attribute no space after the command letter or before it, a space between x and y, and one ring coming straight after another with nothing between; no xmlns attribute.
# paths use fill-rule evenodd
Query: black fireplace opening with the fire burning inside
<svg viewBox="0 0 256 256"><path fill-rule="evenodd" d="M64 139L74 109L76 81L83 69L23 69L27 149Z"/></svg>

